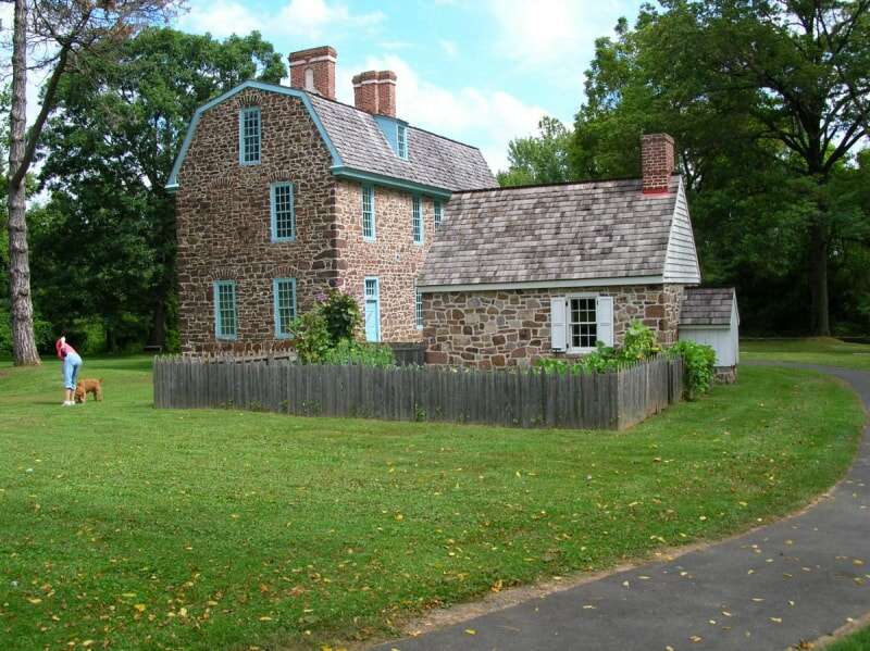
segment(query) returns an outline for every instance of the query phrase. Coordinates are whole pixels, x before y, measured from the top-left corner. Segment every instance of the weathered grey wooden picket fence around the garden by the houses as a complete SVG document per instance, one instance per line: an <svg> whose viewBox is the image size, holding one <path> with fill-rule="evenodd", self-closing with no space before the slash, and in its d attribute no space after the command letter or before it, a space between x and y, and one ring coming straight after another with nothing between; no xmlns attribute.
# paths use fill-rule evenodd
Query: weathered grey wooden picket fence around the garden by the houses
<svg viewBox="0 0 870 651"><path fill-rule="evenodd" d="M164 409L622 429L680 400L683 363L662 356L613 373L544 374L169 356L154 359L153 383Z"/></svg>

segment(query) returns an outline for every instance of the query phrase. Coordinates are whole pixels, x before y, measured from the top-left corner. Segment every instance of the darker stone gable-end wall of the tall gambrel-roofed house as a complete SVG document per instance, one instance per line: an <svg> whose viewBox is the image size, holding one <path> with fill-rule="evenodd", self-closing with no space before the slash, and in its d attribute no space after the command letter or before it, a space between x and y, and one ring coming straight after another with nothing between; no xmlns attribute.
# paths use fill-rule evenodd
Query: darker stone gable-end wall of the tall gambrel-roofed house
<svg viewBox="0 0 870 651"><path fill-rule="evenodd" d="M261 163L240 165L238 112L260 107ZM336 281L334 179L301 100L248 89L206 111L179 174L179 327L184 351L286 345L274 338L272 280L297 279L304 311ZM297 237L272 242L270 185L293 181ZM212 283L237 284L238 337L214 335Z"/></svg>

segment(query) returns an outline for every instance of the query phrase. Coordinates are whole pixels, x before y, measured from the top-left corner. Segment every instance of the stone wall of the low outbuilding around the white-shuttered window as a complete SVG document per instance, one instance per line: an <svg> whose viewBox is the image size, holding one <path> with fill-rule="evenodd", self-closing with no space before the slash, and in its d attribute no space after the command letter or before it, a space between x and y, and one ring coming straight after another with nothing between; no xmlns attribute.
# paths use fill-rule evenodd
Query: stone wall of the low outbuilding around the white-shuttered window
<svg viewBox="0 0 870 651"><path fill-rule="evenodd" d="M571 293L613 297L617 345L635 318L655 329L663 345L678 339L681 285L435 292L423 295L426 361L490 368L572 356L555 353L550 342L550 299Z"/></svg>

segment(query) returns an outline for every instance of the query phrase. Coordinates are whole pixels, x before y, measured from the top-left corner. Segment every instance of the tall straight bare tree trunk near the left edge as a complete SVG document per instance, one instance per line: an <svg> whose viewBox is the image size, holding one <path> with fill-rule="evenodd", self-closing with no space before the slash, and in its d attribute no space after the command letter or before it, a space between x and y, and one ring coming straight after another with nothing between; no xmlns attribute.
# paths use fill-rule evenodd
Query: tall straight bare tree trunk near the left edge
<svg viewBox="0 0 870 651"><path fill-rule="evenodd" d="M15 0L12 40L12 110L9 148L9 298L12 308L12 358L16 366L39 364L34 336L34 306L30 298L30 261L27 249L26 178L17 174L24 164L24 136L27 120L27 58L25 0Z"/></svg>

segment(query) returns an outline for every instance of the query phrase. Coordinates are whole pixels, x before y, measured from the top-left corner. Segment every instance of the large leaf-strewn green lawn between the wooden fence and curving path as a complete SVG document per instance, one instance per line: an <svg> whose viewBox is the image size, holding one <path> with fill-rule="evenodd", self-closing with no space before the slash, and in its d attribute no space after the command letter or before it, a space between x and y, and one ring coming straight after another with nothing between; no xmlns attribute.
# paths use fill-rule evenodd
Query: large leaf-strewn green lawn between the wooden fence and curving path
<svg viewBox="0 0 870 651"><path fill-rule="evenodd" d="M156 411L149 360L0 367L0 639L248 649L388 635L423 609L785 514L848 466L834 380L737 385L627 433Z"/></svg>

